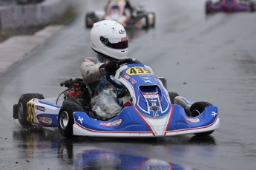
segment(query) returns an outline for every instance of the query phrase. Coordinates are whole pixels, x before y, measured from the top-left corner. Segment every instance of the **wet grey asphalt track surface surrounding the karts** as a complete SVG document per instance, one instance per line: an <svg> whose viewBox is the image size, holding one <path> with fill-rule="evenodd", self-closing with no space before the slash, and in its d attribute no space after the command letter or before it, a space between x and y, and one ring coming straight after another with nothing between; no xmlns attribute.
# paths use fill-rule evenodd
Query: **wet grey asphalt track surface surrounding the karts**
<svg viewBox="0 0 256 170"><path fill-rule="evenodd" d="M0 169L255 169L256 13L206 16L205 1L143 0L157 14L154 29L128 30L128 55L168 80L168 90L218 106L220 129L209 137L160 139L76 137L50 130L27 132L13 120L13 104L27 92L45 98L59 83L81 77L94 55L85 29L87 11L105 1L84 1L81 16L0 77Z"/></svg>

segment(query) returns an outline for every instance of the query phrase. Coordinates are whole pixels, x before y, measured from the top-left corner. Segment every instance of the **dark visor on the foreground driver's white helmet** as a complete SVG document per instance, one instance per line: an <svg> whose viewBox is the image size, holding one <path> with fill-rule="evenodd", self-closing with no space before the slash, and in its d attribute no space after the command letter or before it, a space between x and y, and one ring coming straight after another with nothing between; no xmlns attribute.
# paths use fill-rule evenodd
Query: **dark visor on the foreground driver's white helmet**
<svg viewBox="0 0 256 170"><path fill-rule="evenodd" d="M126 49L128 48L128 37L125 38L104 38L101 37L100 41L105 46L113 48L113 49Z"/></svg>

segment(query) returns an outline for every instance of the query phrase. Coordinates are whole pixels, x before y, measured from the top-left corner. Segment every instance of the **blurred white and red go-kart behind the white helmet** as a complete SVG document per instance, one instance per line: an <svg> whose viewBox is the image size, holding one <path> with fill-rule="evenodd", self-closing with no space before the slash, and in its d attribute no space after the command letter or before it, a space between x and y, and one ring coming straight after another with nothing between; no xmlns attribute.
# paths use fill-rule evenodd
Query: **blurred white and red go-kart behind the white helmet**
<svg viewBox="0 0 256 170"><path fill-rule="evenodd" d="M154 27L155 13L145 12L141 7L127 5L129 1L111 0L105 7L105 11L88 12L85 14L85 27L91 28L93 24L102 20L114 20L125 28L148 29Z"/></svg>

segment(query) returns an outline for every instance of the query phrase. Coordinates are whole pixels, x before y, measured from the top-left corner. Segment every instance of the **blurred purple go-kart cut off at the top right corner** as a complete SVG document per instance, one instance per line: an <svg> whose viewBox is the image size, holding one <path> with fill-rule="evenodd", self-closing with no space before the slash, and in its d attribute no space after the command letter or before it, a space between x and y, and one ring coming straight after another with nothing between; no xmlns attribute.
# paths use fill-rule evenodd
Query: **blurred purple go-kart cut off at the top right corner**
<svg viewBox="0 0 256 170"><path fill-rule="evenodd" d="M206 14L215 12L255 11L255 2L250 0L220 0L206 1Z"/></svg>

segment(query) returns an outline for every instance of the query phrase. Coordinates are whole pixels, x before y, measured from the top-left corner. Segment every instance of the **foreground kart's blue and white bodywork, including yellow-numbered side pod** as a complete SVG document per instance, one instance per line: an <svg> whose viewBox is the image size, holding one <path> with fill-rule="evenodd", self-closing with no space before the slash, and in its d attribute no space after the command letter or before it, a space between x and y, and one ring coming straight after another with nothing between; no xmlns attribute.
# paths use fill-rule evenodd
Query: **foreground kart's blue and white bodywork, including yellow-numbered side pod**
<svg viewBox="0 0 256 170"><path fill-rule="evenodd" d="M130 94L130 106L125 106L110 120L91 118L87 112L72 112L72 135L99 137L165 137L185 134L211 134L218 129L217 106L205 106L197 116L190 116L186 110L194 102L176 96L170 97L152 69L143 64L126 64L116 70L114 81L124 86ZM22 97L21 97L22 99ZM21 100L20 99L20 100ZM22 120L24 110L27 122L37 126L58 128L62 103L58 98L32 98L27 109L21 103L13 106L13 118ZM119 103L123 105L124 103ZM22 111L21 111L22 110ZM70 120L65 118L64 120ZM62 122L67 125L69 122Z"/></svg>

